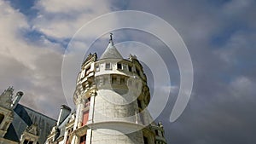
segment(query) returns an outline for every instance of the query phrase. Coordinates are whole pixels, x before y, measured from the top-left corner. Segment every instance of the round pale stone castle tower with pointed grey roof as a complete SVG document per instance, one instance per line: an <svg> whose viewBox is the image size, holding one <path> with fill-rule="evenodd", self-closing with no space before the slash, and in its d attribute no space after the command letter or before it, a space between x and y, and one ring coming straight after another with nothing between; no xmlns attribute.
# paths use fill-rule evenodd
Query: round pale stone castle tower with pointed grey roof
<svg viewBox="0 0 256 144"><path fill-rule="evenodd" d="M67 120L65 143L154 144L155 132L163 130L146 109L150 94L143 66L136 56L125 60L119 54L112 34L100 59L90 54L84 60L73 101L76 111Z"/></svg>

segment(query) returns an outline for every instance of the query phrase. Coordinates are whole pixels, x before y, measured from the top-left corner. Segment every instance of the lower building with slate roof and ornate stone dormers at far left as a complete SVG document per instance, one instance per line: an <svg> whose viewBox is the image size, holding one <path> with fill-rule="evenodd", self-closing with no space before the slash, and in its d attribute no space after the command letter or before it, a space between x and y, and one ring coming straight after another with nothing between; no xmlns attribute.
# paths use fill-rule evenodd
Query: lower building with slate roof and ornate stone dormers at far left
<svg viewBox="0 0 256 144"><path fill-rule="evenodd" d="M18 104L23 93L13 95L13 91L9 87L0 95L0 115L4 115L0 118L0 144L22 143L25 139L43 144L55 119Z"/></svg>

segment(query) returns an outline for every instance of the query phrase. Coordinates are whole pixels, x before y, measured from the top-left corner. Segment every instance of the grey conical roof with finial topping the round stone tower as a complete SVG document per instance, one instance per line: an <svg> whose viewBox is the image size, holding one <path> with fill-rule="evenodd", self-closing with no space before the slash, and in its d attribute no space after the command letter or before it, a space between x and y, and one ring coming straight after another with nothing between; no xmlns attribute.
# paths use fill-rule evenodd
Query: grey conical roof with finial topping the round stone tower
<svg viewBox="0 0 256 144"><path fill-rule="evenodd" d="M123 59L119 51L113 45L112 33L110 33L110 40L108 43L108 48L104 51L100 59Z"/></svg>

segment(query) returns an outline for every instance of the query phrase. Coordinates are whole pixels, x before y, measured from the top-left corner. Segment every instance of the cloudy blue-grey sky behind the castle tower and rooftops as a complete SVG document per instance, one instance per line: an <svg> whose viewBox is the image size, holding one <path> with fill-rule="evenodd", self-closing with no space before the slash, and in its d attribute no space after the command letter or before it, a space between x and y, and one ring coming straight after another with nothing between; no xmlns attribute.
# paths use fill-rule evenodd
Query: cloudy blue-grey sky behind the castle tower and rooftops
<svg viewBox="0 0 256 144"><path fill-rule="evenodd" d="M61 66L74 34L102 14L119 10L143 11L159 16L175 28L193 63L194 84L189 104L181 117L171 123L169 118L180 84L174 55L166 52L166 45L159 38L147 32L130 29L113 32L115 42L146 43L166 62L172 79L172 84L166 86L171 87L172 92L157 120L164 124L168 143L255 143L255 8L253 0L74 0L72 3L0 0L0 90L14 86L15 92L21 90L25 94L21 104L57 118L61 104L67 104L62 90ZM113 18L101 26L121 23ZM150 26L150 22L144 25ZM165 31L161 27L155 29ZM97 36L98 32L97 26L86 32L87 36L99 38L84 56L89 52L101 55L106 49L108 33ZM82 49L83 52L84 47L89 47L83 33L76 38L78 49L74 51ZM121 46L118 49L123 57L128 57ZM68 52L73 54L73 51ZM134 55L145 55L145 52L139 50ZM148 60L152 60L150 58ZM154 64L154 60L151 62ZM75 66L80 66L82 60L70 63L74 67L69 72L76 73L79 67ZM150 88L154 83L150 68L158 66L144 68ZM74 78L70 84L75 81Z"/></svg>

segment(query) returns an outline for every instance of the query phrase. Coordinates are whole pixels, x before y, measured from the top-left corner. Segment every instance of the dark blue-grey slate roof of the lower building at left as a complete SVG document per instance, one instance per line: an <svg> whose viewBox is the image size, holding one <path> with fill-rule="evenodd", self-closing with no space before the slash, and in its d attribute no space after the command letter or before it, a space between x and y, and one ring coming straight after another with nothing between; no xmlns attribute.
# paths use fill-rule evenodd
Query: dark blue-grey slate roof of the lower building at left
<svg viewBox="0 0 256 144"><path fill-rule="evenodd" d="M20 136L23 134L24 130L26 130L27 126L38 124L38 143L44 144L47 135L49 135L49 132L55 123L56 120L54 118L49 118L31 108L18 104L14 109L14 120L12 124L9 125L9 129L7 130L6 135L4 135L4 138L19 142Z"/></svg>

